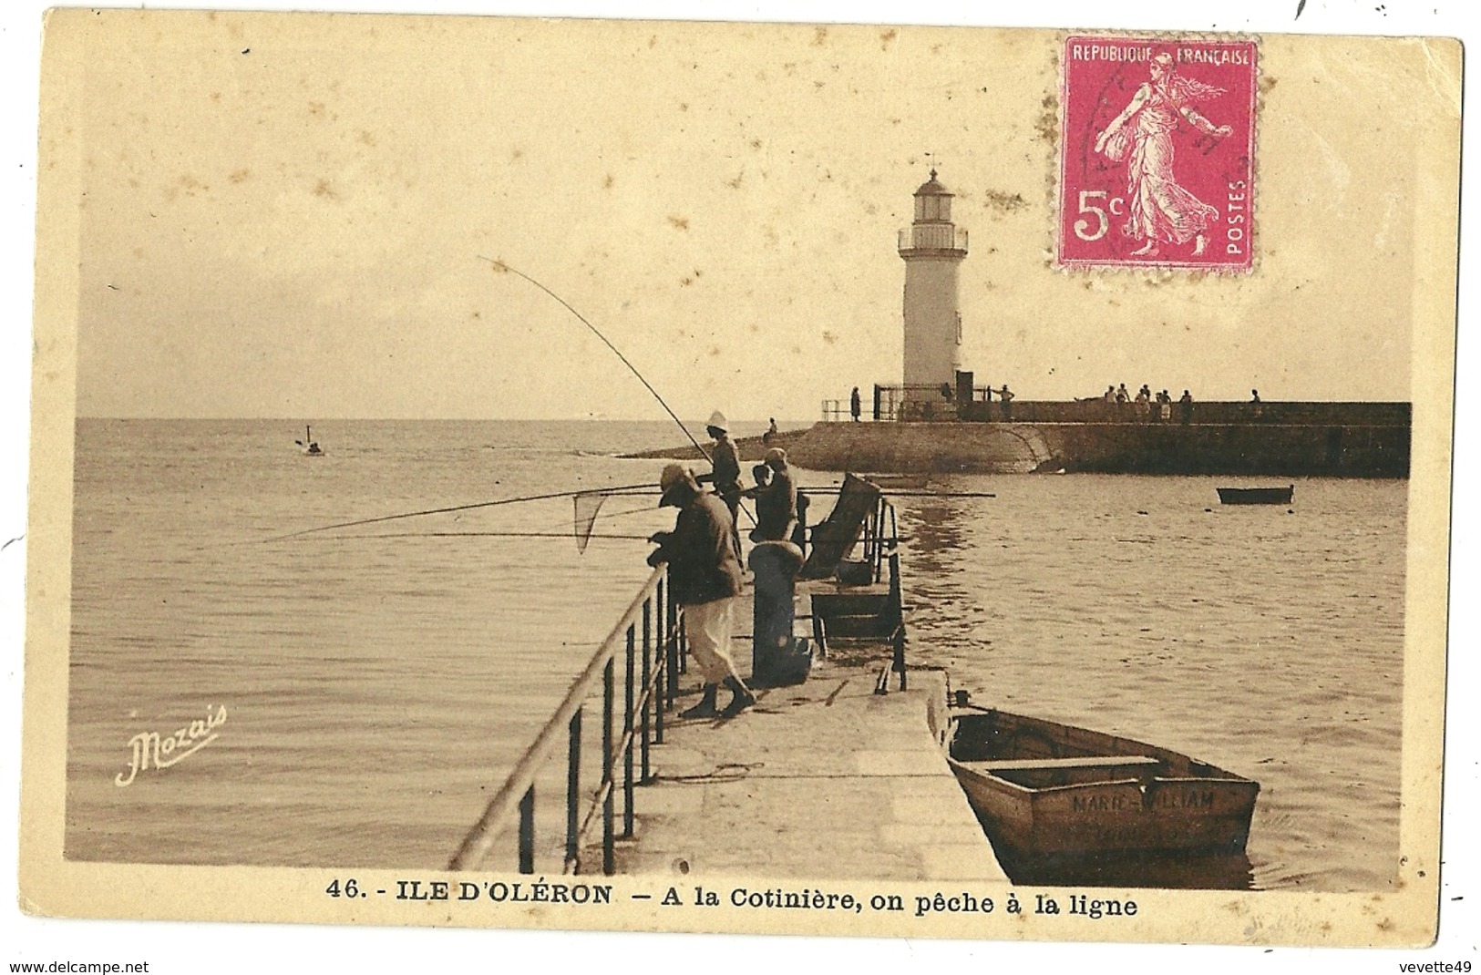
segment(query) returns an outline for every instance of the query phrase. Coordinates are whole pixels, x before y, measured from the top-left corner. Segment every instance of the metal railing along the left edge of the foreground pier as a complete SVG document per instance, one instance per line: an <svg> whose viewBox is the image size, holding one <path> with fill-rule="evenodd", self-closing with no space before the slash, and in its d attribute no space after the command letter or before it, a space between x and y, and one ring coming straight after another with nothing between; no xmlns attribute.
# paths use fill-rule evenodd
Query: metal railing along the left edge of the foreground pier
<svg viewBox="0 0 1481 975"><path fill-rule="evenodd" d="M622 793L621 836L632 836L634 787L650 782L650 747L663 742L665 713L674 708L684 661L681 609L668 599L668 572L658 568L576 677L535 742L489 800L449 870L478 868L518 818L520 873L535 873L535 779L566 742L564 873L578 873L586 836L601 822L601 871L616 873L616 796ZM622 659L622 714L618 723L618 659ZM601 779L582 794L582 725L588 702L601 696ZM621 732L621 733L619 733ZM585 800L585 802L584 802Z"/></svg>

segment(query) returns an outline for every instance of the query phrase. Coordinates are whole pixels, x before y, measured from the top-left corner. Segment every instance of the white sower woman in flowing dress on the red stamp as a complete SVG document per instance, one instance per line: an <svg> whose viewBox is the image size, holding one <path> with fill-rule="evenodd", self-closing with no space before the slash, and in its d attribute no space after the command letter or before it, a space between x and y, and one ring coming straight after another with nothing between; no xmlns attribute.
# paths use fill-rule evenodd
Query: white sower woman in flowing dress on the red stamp
<svg viewBox="0 0 1481 975"><path fill-rule="evenodd" d="M1142 240L1133 256L1154 256L1158 244L1194 242L1194 255L1208 247L1208 222L1219 210L1179 185L1173 173L1173 132L1185 120L1198 132L1222 139L1234 132L1214 126L1195 108L1223 95L1222 87L1183 77L1166 50L1151 61L1151 81L1143 81L1121 114L1096 138L1096 151L1126 162L1129 237Z"/></svg>

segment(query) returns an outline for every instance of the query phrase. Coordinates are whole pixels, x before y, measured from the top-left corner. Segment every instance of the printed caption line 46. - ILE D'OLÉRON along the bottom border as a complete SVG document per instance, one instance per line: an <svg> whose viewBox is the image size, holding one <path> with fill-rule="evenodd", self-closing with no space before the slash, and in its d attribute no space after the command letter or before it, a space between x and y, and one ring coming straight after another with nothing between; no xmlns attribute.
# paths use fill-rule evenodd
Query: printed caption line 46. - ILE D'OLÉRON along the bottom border
<svg viewBox="0 0 1481 975"><path fill-rule="evenodd" d="M395 880L388 888L361 885L357 879L335 879L324 894L332 898L387 898L394 901L455 901L493 904L576 904L606 907L613 904L613 885L551 880ZM936 891L930 895L874 894L826 891L822 888L730 888L711 891L703 886L668 888L662 895L618 894L619 901L656 902L659 907L738 907L751 910L813 910L860 914L911 913L929 914L1040 914L1100 920L1136 917L1139 905L1133 899L1091 898L1086 894L1056 892L1025 895L1014 892L998 898L969 891Z"/></svg>

